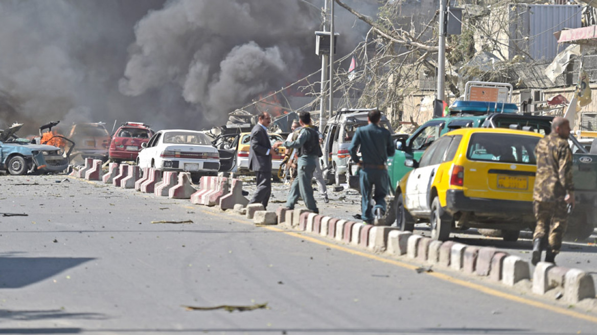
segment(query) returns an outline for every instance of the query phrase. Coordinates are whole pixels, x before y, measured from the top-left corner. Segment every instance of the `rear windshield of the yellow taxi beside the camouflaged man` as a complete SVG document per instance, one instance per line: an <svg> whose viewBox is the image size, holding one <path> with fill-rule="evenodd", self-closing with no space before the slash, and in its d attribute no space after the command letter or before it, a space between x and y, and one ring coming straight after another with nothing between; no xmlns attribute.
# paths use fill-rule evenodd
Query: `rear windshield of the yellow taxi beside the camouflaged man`
<svg viewBox="0 0 597 335"><path fill-rule="evenodd" d="M466 158L501 163L536 164L539 137L477 133L470 137Z"/></svg>

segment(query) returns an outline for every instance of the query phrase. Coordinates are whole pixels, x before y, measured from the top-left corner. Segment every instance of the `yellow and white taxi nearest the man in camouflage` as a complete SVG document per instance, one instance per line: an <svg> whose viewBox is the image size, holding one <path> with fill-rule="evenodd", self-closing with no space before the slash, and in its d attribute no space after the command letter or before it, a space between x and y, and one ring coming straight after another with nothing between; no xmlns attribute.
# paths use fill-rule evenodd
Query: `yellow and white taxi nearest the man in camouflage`
<svg viewBox="0 0 597 335"><path fill-rule="evenodd" d="M396 225L429 222L445 241L456 229L500 229L506 241L534 227L535 147L543 135L516 129L461 128L438 138L399 182Z"/></svg>

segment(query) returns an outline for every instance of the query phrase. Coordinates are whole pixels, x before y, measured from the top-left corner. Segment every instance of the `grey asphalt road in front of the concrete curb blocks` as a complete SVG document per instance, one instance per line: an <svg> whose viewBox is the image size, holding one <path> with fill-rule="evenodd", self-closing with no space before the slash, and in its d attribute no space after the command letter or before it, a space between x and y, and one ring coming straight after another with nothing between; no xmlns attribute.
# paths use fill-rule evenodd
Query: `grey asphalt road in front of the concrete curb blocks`
<svg viewBox="0 0 597 335"><path fill-rule="evenodd" d="M0 334L597 333L582 304L418 274L188 200L66 176L0 176L0 189L1 212L27 214L0 216Z"/></svg>

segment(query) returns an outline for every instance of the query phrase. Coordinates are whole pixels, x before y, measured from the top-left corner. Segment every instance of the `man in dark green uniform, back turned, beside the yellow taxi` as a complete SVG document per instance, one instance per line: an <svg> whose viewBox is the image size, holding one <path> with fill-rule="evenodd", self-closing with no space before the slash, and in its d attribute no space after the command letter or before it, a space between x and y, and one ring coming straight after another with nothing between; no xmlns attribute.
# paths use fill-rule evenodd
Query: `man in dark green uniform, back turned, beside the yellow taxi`
<svg viewBox="0 0 597 335"><path fill-rule="evenodd" d="M361 186L361 218L367 224L383 225L383 215L386 213L386 196L390 186L390 176L387 174L386 160L394 156L392 134L379 126L381 111L375 109L367 115L369 124L356 129L350 144L350 158L361 167L359 182ZM362 157L356 151L361 148ZM371 192L375 185L371 206ZM373 209L373 213L372 213Z"/></svg>

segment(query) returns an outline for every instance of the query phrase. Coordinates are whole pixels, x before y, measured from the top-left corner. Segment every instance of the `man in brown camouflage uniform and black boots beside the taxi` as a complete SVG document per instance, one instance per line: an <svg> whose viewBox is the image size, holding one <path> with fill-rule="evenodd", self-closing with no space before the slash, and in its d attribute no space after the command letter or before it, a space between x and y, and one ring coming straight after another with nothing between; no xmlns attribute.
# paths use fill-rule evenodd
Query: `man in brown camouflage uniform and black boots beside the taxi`
<svg viewBox="0 0 597 335"><path fill-rule="evenodd" d="M555 117L552 132L541 138L535 148L537 175L533 190L533 212L537 227L533 234L533 265L541 260L545 244L545 261L555 262L566 231L567 204L574 207L572 151L568 145L568 135L570 122L563 117Z"/></svg>

